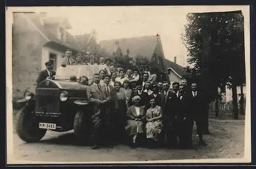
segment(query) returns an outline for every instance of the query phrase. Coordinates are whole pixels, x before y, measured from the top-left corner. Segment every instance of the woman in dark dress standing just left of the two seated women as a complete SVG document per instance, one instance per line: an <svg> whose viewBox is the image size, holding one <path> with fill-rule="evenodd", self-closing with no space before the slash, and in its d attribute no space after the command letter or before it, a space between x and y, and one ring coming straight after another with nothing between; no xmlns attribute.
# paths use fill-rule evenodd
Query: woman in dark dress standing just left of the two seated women
<svg viewBox="0 0 256 169"><path fill-rule="evenodd" d="M121 88L120 82L115 82L114 89L110 93L112 124L113 124L113 137L114 143L123 142L126 125L126 96L124 90Z"/></svg>

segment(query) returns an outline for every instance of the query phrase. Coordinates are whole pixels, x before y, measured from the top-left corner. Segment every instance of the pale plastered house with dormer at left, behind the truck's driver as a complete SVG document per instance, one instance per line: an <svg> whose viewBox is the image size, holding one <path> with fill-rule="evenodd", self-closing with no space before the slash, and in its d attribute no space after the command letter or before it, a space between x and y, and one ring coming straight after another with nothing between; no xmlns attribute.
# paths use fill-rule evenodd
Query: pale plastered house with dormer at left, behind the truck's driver
<svg viewBox="0 0 256 169"><path fill-rule="evenodd" d="M26 89L34 92L36 79L45 69L45 62L53 61L56 71L65 51L70 49L76 54L91 36L72 36L69 29L72 27L65 17L47 17L46 13L34 12L13 13L13 100L21 98Z"/></svg>

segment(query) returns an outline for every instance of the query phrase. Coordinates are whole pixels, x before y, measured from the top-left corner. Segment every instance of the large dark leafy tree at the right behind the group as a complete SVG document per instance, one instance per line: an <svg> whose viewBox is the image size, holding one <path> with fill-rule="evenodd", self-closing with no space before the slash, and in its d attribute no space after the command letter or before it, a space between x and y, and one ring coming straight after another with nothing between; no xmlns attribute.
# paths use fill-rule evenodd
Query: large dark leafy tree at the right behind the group
<svg viewBox="0 0 256 169"><path fill-rule="evenodd" d="M197 72L207 101L218 100L218 87L232 88L233 114L238 118L237 86L245 82L244 25L241 11L190 13L183 41L188 63ZM230 62L232 62L230 64Z"/></svg>

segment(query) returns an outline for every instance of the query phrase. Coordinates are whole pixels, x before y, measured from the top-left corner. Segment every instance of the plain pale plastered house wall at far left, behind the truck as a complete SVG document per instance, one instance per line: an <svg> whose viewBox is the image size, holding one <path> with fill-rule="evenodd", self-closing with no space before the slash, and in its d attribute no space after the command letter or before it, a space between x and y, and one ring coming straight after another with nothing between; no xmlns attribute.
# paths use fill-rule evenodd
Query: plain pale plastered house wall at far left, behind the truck
<svg viewBox="0 0 256 169"><path fill-rule="evenodd" d="M46 43L22 14L13 14L12 89L13 100L23 97L24 91L35 90L41 70L42 45Z"/></svg>

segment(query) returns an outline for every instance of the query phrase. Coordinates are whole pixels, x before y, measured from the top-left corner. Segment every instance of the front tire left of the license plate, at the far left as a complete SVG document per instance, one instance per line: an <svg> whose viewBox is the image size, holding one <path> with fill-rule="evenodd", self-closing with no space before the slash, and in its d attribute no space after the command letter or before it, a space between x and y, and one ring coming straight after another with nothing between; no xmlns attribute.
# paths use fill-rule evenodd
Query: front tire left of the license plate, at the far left
<svg viewBox="0 0 256 169"><path fill-rule="evenodd" d="M26 142L35 142L39 141L42 137L45 136L47 129L39 129L36 131L37 134L30 134L26 131L24 124L27 122L26 119L31 115L31 110L29 107L25 106L17 113L17 123L16 123L16 132L20 139Z"/></svg>

